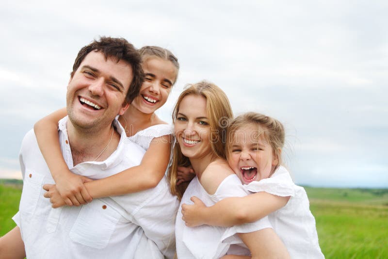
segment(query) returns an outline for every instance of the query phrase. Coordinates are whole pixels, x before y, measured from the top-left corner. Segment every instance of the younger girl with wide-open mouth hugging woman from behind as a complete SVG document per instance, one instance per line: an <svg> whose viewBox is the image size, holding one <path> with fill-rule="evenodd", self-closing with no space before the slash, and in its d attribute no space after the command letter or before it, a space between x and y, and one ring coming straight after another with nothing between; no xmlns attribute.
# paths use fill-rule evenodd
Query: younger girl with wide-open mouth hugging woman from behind
<svg viewBox="0 0 388 259"><path fill-rule="evenodd" d="M271 117L245 113L232 120L226 137L227 161L245 189L254 194L224 199L212 207L193 197L194 205L182 205L186 224L231 226L250 222L267 211L267 202L256 194L291 196L286 206L269 214L272 227L291 258L324 258L307 194L280 165L284 139L283 125Z"/></svg>

